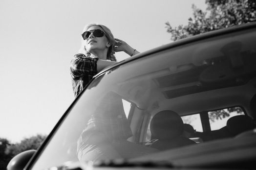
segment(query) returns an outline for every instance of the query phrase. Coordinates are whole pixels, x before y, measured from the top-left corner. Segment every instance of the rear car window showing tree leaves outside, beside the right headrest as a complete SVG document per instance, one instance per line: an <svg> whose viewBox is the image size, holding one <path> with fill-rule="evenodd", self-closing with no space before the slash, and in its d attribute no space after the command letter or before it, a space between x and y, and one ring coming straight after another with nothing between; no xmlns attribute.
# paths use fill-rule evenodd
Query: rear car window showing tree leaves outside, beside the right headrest
<svg viewBox="0 0 256 170"><path fill-rule="evenodd" d="M244 115L241 107L229 107L208 112L211 130L218 130L226 126L227 120L237 115Z"/></svg>

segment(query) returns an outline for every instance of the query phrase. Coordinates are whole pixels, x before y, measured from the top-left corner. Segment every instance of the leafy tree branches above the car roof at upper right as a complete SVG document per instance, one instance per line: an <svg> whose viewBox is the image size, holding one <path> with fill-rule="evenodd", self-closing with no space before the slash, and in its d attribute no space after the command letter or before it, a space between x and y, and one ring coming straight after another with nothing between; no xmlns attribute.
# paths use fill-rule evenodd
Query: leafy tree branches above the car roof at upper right
<svg viewBox="0 0 256 170"><path fill-rule="evenodd" d="M171 40L176 41L192 35L201 34L221 28L241 25L256 21L256 0L206 0L207 10L192 5L193 17L188 25L172 28L166 22Z"/></svg>

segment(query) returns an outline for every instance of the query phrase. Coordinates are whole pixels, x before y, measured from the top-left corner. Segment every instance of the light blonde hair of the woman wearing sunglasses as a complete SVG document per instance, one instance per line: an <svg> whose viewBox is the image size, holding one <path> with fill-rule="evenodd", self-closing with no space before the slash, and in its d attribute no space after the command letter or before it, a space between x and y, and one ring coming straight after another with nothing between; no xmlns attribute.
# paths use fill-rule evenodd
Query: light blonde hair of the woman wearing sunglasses
<svg viewBox="0 0 256 170"><path fill-rule="evenodd" d="M107 60L116 61L116 57L114 55L115 54L115 51L114 51L115 39L114 39L114 36L111 33L111 31L109 30L109 28L107 28L105 25L102 25L102 24L91 23L91 24L88 24L85 26L83 33L92 26L99 26L102 28L102 30L106 34L106 37L110 43L110 47L108 48L108 51L107 51ZM86 51L86 49L85 49L85 40L83 38L81 38L81 39L82 39L81 48L78 52L83 53L89 57L90 53L88 51Z"/></svg>

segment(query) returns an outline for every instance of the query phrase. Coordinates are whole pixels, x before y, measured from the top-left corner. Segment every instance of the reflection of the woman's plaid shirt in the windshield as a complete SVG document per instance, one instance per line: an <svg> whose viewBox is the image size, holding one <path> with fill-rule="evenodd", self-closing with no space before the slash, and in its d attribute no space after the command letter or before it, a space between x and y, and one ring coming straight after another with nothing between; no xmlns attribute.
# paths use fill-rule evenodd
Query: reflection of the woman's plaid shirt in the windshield
<svg viewBox="0 0 256 170"><path fill-rule="evenodd" d="M101 132L107 135L110 141L126 140L132 136L120 96L108 92L96 107L85 126L84 135L87 132Z"/></svg>

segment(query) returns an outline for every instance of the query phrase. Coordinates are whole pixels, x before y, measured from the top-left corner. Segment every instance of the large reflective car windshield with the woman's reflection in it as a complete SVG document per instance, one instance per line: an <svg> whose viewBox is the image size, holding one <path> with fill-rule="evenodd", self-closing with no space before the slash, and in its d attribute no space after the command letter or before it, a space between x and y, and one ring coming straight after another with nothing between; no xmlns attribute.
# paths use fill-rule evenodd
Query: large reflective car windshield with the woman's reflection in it
<svg viewBox="0 0 256 170"><path fill-rule="evenodd" d="M253 129L246 125L255 114L255 49L256 31L247 29L155 50L108 69L68 110L32 170L133 159ZM243 119L247 123L238 125Z"/></svg>

